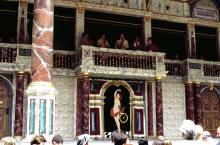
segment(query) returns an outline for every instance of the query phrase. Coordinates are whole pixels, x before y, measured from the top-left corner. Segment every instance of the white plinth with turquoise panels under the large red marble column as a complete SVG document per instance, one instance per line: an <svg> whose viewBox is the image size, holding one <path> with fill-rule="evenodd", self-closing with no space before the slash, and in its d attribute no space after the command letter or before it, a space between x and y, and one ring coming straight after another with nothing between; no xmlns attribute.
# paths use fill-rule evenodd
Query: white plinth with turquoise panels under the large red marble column
<svg viewBox="0 0 220 145"><path fill-rule="evenodd" d="M49 82L32 82L27 90L27 132L26 137L42 134L53 135L56 90Z"/></svg>

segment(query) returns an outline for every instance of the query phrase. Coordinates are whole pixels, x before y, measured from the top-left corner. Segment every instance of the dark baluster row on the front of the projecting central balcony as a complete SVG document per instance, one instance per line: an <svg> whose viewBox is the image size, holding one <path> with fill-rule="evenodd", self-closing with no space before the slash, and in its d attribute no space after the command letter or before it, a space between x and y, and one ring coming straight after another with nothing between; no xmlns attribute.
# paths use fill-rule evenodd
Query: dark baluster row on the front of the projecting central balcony
<svg viewBox="0 0 220 145"><path fill-rule="evenodd" d="M155 56L93 51L93 62L99 66L155 69Z"/></svg>

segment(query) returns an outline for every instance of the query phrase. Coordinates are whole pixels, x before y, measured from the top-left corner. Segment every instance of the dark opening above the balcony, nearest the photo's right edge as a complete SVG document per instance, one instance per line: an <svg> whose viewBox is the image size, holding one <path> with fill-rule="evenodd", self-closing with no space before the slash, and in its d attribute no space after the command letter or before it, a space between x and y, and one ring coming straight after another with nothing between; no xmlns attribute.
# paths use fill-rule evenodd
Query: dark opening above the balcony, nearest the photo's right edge
<svg viewBox="0 0 220 145"><path fill-rule="evenodd" d="M216 61L218 59L216 28L196 26L195 31L197 58Z"/></svg>

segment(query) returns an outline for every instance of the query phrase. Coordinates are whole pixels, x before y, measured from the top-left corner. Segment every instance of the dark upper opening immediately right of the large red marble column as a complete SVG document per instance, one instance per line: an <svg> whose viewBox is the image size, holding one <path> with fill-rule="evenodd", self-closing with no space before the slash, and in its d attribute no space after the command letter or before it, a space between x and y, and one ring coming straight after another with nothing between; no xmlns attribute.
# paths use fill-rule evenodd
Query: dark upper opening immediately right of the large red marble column
<svg viewBox="0 0 220 145"><path fill-rule="evenodd" d="M75 50L75 9L54 7L54 50Z"/></svg>

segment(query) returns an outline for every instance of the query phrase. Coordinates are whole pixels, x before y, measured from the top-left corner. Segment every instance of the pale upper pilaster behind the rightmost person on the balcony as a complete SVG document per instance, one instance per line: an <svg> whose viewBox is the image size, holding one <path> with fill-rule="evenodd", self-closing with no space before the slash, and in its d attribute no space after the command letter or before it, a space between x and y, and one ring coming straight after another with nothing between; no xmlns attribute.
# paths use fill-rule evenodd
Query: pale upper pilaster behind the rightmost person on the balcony
<svg viewBox="0 0 220 145"><path fill-rule="evenodd" d="M144 42L147 44L147 39L152 37L152 30L151 30L151 18L144 17L143 18L143 31L144 31Z"/></svg>

